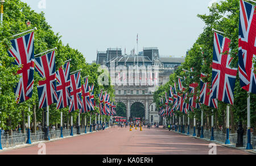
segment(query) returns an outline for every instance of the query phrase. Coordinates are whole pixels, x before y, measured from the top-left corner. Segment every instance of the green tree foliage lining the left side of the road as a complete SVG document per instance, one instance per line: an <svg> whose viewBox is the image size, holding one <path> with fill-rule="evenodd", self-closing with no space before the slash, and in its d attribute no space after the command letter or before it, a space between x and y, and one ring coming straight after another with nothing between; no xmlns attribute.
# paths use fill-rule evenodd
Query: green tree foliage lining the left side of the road
<svg viewBox="0 0 256 166"><path fill-rule="evenodd" d="M33 96L28 99L28 101L16 104L15 94L13 88L19 81L19 76L17 73L20 67L13 65L14 59L9 57L7 50L11 48L10 40L13 39L11 36L24 32L26 30L31 30L36 27L38 30L35 31L35 55L49 49L57 47L56 50L56 70L64 64L64 61L68 59L71 60L71 72L82 69L81 78L89 76L89 85L94 84L94 99L96 103L99 103L97 94L100 93L101 89L104 92L108 92L112 99L114 99L114 89L113 86L102 86L98 85L98 76L101 72L97 72L99 65L86 63L85 56L82 55L77 49L69 47L69 45L64 45L61 42L61 36L58 33L52 31L52 27L46 22L44 18L44 13L35 13L34 10L27 5L27 3L21 2L20 0L6 0L5 14L3 18L3 24L0 26L0 127L5 130L11 130L22 124L23 119L27 117L28 114L32 115L32 106L36 105L36 119L38 122L42 122L43 109L38 109L38 92L36 86L38 86L38 81L42 80L39 75L35 72L34 76L34 88ZM26 22L30 20L31 26L27 27ZM82 80L82 84L84 81ZM28 111L28 107L31 111ZM56 124L60 123L60 111L63 111L64 118L68 115L68 107L61 110L56 110L56 104L49 107L49 123ZM73 113L74 120L76 122L76 117L79 111ZM86 113L89 117L90 114L99 113L96 110ZM69 118L70 119L70 118Z"/></svg>

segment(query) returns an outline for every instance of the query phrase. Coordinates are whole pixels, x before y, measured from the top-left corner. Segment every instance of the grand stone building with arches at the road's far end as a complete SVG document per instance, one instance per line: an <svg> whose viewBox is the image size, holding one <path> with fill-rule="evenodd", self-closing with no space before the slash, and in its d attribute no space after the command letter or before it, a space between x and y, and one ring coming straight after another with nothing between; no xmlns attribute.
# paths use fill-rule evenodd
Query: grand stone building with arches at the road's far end
<svg viewBox="0 0 256 166"><path fill-rule="evenodd" d="M161 57L157 47L144 48L135 55L122 55L121 48L109 48L97 52L97 64L109 69L115 89L115 102L126 106L126 119L130 118L130 108L134 103L142 103L146 123L159 123L158 110L154 103L155 90L166 84L170 74L184 62L183 57ZM137 117L140 118L140 117Z"/></svg>

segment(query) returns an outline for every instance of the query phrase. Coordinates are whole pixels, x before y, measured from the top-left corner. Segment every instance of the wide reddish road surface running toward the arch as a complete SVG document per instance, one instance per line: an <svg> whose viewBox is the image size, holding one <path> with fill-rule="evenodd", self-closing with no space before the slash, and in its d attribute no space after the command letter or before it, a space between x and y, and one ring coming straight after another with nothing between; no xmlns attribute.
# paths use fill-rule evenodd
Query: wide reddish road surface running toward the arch
<svg viewBox="0 0 256 166"><path fill-rule="evenodd" d="M139 128L138 128L139 129ZM209 143L161 128L108 128L46 143L47 155L208 155ZM0 152L0 155L37 155L38 145ZM246 151L217 144L217 155L243 155Z"/></svg>

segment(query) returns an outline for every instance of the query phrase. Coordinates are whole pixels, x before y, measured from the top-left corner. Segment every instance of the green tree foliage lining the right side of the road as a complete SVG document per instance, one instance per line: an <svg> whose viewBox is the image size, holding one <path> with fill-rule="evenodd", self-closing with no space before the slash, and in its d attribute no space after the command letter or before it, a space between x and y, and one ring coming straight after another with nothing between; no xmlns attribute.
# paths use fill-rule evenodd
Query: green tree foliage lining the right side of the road
<svg viewBox="0 0 256 166"><path fill-rule="evenodd" d="M187 89L188 85L192 82L197 82L200 85L200 73L207 75L204 78L206 82L212 82L212 54L213 54L213 31L212 28L222 31L225 36L232 42L230 48L232 49L231 56L233 57L232 65L237 68L238 64L238 31L239 31L239 14L240 14L240 1L239 0L226 0L221 1L216 7L209 8L209 15L197 15L201 20L205 22L204 31L199 35L199 38L193 44L189 50L188 55L185 57L185 63L181 64L181 67L171 74L170 81L166 85L161 86L154 94L154 100L159 107L159 97L164 97L164 92L169 92L169 88L174 86L174 80L177 82L177 76L187 77L183 82L183 86ZM193 72L186 73L182 69L190 70L193 68ZM194 78L190 78L193 76ZM234 114L234 121L232 125L236 125L238 121L242 121L246 124L247 118L247 92L240 87L239 76L237 74L236 88L234 90L234 105L231 106L231 110ZM199 96L200 89L197 90L197 96ZM250 94L251 101L251 126L256 127L256 100L255 94ZM187 101L188 103L188 101ZM212 115L212 108L202 105L201 109L204 114ZM226 103L218 101L218 110L214 109L214 115L218 115L217 122L222 126L225 123ZM180 112L176 111L176 115ZM193 117L194 113L190 113ZM201 118L201 110L195 111L196 117Z"/></svg>

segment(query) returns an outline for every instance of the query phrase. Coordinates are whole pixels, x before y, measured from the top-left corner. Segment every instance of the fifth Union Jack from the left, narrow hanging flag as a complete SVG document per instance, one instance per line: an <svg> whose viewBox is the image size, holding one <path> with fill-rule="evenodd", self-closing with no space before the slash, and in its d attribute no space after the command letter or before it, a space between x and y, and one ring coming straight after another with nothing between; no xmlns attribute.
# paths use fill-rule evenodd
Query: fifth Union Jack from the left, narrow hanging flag
<svg viewBox="0 0 256 166"><path fill-rule="evenodd" d="M90 92L89 92L89 79L84 78L85 84L82 85L82 108L80 113L88 113L90 111Z"/></svg>

